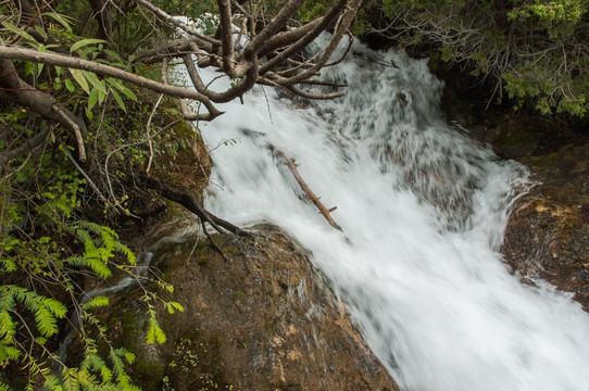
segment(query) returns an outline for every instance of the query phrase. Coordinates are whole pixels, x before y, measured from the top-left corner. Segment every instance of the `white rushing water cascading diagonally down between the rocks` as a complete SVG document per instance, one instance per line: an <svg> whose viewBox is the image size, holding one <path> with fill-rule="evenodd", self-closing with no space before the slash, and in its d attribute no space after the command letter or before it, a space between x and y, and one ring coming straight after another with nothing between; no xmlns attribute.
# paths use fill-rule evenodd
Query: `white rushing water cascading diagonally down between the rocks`
<svg viewBox="0 0 589 391"><path fill-rule="evenodd" d="M296 106L256 87L200 125L206 206L277 224L311 250L403 390L589 390L589 316L547 283L519 283L498 253L525 169L446 124L425 62L352 52L323 72L349 85L344 98ZM341 232L277 150L337 206Z"/></svg>

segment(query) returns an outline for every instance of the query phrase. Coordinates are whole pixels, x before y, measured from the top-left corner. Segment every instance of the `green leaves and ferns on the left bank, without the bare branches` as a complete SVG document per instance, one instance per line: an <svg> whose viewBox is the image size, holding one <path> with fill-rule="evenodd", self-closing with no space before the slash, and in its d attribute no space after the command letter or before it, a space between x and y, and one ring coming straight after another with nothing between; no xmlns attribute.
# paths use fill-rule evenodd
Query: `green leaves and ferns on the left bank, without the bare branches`
<svg viewBox="0 0 589 391"><path fill-rule="evenodd" d="M59 43L48 45L18 25L18 14L3 2L0 13L7 17L2 18L0 38L39 51L66 48L82 59L128 68L130 54L122 54L121 46L79 35L82 24L76 16L82 17L87 8L85 1L60 2L53 11L41 8L37 16L43 25L36 25L36 31L57 37ZM62 13L64 10L67 13ZM125 22L131 26L124 35L137 34L133 28L139 17ZM91 28L87 33L93 34ZM134 353L111 345L108 330L96 315L109 305L109 298L85 297L84 280L104 281L118 270L141 285L153 282L172 289L158 278L138 275L134 252L109 226L118 214L131 214L134 204L125 178L131 177L134 164L143 164L150 154L156 159L177 150L177 138L161 131L171 121L171 110L164 108L151 122L156 134L153 140L161 142L150 151L145 122L154 105L151 94L87 71L29 62L22 62L17 70L39 91L53 94L60 104L77 108L88 123L100 119L85 135L85 147L102 163L87 166L87 172L76 166L74 142L66 129L0 100L0 156L26 147L28 139L48 130L43 143L0 164L0 390L138 390L127 374ZM102 168L105 161L106 168ZM97 198L92 189L109 195ZM146 195L137 199L135 206L145 205ZM88 219L96 212L99 222ZM163 343L156 308L184 308L147 288L143 301L150 319L147 339ZM84 346L79 363L65 363L55 353L58 337L64 337L67 324L74 326ZM98 349L99 344L105 350ZM55 367L61 367L61 373Z"/></svg>

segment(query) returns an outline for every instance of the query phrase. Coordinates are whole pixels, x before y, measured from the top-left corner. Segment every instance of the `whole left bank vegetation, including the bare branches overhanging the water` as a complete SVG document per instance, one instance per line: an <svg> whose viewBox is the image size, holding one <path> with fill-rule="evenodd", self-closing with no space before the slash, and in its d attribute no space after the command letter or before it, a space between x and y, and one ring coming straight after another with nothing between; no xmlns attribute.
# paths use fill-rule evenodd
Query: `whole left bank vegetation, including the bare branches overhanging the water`
<svg viewBox="0 0 589 391"><path fill-rule="evenodd" d="M201 167L198 131L184 121L198 128L222 114L216 103L259 83L339 96L297 85L315 83L360 3L334 2L301 24L302 0L0 1L0 390L137 389L126 369L134 353L114 346L97 316L109 299L86 292L113 275L135 278L147 343L165 341L158 312L183 306L154 293L152 286L173 288L139 273L121 234L137 235L164 198L217 229L235 228L168 187L180 163ZM301 59L328 28L331 46ZM234 43L236 31L246 45ZM190 87L167 79L179 63ZM197 65L228 75L230 88L209 89ZM57 353L70 331L79 362Z"/></svg>

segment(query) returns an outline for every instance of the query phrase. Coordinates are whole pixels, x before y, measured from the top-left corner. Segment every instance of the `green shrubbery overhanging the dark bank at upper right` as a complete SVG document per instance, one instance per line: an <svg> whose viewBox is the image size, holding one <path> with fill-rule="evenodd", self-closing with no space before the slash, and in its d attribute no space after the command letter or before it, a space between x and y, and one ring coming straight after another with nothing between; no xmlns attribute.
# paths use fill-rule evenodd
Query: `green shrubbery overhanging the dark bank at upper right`
<svg viewBox="0 0 589 391"><path fill-rule="evenodd" d="M489 100L544 115L589 110L589 1L383 0L376 30L438 50L494 89ZM422 49L423 50L423 49Z"/></svg>

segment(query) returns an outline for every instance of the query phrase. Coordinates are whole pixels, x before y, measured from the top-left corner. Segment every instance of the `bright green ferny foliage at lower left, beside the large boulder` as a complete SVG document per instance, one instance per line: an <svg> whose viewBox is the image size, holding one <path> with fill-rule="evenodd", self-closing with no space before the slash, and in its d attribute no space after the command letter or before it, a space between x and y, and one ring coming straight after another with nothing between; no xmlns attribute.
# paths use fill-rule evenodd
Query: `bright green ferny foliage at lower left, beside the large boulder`
<svg viewBox="0 0 589 391"><path fill-rule="evenodd" d="M165 342L156 307L171 313L184 308L145 287L155 283L173 290L158 278L136 273L134 252L112 228L76 217L85 180L68 161L51 157L50 169L38 173L38 162L25 161L21 175L0 180L4 194L0 205L0 391L40 386L59 391L138 391L126 371L135 355L111 344L109 330L97 316L109 305L109 298L87 298L78 276L106 280L116 269L136 278L143 289L148 343ZM22 187L32 184L38 187L36 198L20 197ZM74 326L84 351L74 366L54 353L65 325ZM103 348L98 349L99 344Z"/></svg>

